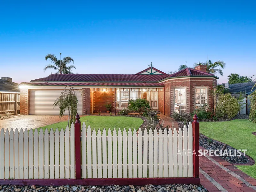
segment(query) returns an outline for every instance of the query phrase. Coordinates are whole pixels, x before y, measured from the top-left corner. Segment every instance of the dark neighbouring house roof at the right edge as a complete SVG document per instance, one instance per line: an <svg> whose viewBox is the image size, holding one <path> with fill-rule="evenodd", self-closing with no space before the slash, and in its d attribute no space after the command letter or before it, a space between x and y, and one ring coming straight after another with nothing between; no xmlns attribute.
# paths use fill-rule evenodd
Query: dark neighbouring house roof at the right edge
<svg viewBox="0 0 256 192"><path fill-rule="evenodd" d="M228 92L237 93L246 91L247 94L250 94L256 90L256 87L252 89L252 87L256 84L255 81L247 82L247 83L236 83L229 84Z"/></svg>

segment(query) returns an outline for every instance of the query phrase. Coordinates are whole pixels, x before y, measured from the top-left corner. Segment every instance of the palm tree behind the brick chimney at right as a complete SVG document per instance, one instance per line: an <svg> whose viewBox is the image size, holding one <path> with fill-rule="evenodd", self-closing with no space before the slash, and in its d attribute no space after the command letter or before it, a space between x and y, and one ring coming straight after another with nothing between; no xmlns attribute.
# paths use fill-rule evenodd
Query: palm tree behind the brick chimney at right
<svg viewBox="0 0 256 192"><path fill-rule="evenodd" d="M221 76L223 76L223 71L220 68L217 67L221 67L222 69L224 69L226 67L226 63L224 61L218 60L214 63L212 63L211 60L207 60L206 63L204 62L198 62L195 63L194 66L199 66L199 65L206 65L207 69L206 72L207 73L211 73L211 74L216 74L216 73L220 73Z"/></svg>

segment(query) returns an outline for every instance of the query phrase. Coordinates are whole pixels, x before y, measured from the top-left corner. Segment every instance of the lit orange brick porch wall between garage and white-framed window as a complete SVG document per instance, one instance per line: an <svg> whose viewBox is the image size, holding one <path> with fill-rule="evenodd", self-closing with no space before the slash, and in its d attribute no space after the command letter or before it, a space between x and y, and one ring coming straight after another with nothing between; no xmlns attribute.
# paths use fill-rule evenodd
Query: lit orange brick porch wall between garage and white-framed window
<svg viewBox="0 0 256 192"><path fill-rule="evenodd" d="M110 111L113 113L115 109L115 92L114 91L95 91L93 92L93 112L97 113L98 109L101 113L107 111L105 105L112 104Z"/></svg>

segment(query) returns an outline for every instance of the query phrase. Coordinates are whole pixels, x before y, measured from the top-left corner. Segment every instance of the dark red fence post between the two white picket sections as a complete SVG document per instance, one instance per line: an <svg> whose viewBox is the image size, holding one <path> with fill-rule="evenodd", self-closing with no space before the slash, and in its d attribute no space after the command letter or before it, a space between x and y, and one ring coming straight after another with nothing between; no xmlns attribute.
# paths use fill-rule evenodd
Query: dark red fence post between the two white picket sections
<svg viewBox="0 0 256 192"><path fill-rule="evenodd" d="M81 121L79 121L80 116L76 114L75 122L75 158L76 158L76 179L81 179Z"/></svg>

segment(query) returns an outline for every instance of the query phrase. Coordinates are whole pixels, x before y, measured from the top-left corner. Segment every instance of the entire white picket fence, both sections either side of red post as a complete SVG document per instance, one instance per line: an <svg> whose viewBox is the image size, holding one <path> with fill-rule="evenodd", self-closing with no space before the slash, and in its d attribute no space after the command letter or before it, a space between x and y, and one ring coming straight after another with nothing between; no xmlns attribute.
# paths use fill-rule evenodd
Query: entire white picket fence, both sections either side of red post
<svg viewBox="0 0 256 192"><path fill-rule="evenodd" d="M124 129L102 134L82 126L83 178L192 177L192 124L179 132ZM80 148L78 149L80 150ZM190 153L190 154L189 154ZM58 129L0 132L0 179L75 178L74 124Z"/></svg>

